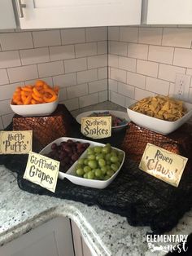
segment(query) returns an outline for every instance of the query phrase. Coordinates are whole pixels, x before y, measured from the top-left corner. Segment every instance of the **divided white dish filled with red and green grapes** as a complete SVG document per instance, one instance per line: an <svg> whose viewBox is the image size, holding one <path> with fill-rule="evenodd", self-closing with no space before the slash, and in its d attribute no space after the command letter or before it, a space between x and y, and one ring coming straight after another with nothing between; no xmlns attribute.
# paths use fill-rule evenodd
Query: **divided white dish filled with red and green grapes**
<svg viewBox="0 0 192 256"><path fill-rule="evenodd" d="M62 137L40 154L60 162L59 179L89 188L106 188L119 173L125 153L109 143Z"/></svg>

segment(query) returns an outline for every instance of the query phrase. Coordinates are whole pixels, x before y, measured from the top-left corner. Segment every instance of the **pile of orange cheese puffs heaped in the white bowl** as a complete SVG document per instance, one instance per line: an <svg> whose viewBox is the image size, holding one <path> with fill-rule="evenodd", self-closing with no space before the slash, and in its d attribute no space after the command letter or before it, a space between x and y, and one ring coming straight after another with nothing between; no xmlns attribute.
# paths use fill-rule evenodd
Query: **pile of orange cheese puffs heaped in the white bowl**
<svg viewBox="0 0 192 256"><path fill-rule="evenodd" d="M17 87L12 98L16 105L45 104L58 98L59 87L51 88L46 82L37 80L35 84Z"/></svg>

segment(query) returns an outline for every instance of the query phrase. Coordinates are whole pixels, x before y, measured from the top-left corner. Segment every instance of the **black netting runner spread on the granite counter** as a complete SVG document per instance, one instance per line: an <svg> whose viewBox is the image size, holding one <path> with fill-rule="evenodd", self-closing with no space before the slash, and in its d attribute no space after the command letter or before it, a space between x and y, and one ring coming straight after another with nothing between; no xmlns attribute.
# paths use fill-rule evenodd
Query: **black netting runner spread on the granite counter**
<svg viewBox="0 0 192 256"><path fill-rule="evenodd" d="M72 116L71 124L70 136L85 139L81 135L80 125ZM7 127L7 130L11 129L11 126ZM120 148L125 132L126 130L123 130L99 142L111 143L112 146ZM0 156L0 164L17 172L18 185L21 189L39 195L80 201L87 205L98 205L103 210L126 217L133 226L150 226L156 234L170 231L192 207L190 162L185 168L178 188L139 170L138 162L126 156L122 170L107 188L102 190L85 188L63 179L58 180L56 191L52 193L22 178L27 160L27 155Z"/></svg>

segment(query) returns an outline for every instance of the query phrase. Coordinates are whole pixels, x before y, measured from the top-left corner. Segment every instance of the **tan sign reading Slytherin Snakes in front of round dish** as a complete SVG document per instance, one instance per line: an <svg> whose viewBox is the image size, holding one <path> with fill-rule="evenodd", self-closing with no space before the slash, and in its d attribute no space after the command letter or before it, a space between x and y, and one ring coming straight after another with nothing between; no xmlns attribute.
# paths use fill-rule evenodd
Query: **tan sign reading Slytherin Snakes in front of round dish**
<svg viewBox="0 0 192 256"><path fill-rule="evenodd" d="M111 117L82 117L81 133L93 139L111 136Z"/></svg>

